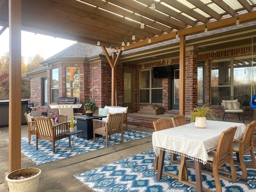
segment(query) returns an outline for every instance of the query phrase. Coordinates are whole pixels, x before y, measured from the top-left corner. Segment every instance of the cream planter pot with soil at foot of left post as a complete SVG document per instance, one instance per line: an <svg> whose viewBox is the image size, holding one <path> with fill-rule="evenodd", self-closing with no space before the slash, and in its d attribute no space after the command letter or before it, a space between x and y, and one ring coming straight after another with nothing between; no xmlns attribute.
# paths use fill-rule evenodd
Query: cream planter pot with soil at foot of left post
<svg viewBox="0 0 256 192"><path fill-rule="evenodd" d="M35 174L24 179L13 179L20 175ZM13 171L6 176L10 192L37 192L41 170L38 168L24 168Z"/></svg>

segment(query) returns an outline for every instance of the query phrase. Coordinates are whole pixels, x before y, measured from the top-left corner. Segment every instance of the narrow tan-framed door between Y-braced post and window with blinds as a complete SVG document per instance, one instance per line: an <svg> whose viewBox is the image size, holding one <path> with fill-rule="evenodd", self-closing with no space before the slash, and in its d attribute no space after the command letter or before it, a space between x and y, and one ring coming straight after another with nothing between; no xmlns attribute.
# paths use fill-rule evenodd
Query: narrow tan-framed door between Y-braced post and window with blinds
<svg viewBox="0 0 256 192"><path fill-rule="evenodd" d="M134 70L124 69L124 106L135 108Z"/></svg>

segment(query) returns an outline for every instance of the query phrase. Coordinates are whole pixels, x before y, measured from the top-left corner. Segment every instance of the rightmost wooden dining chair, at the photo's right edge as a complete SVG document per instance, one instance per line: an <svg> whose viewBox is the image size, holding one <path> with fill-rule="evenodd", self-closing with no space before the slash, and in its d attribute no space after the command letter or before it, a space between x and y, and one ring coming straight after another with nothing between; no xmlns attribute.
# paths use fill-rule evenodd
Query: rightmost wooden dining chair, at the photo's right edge
<svg viewBox="0 0 256 192"><path fill-rule="evenodd" d="M256 159L253 152L253 134L256 128L256 121L252 121L250 124L246 126L244 131L244 135L242 140L234 140L233 151L236 152L236 159L234 164L238 164L241 166L242 176L237 175L239 178L247 179L247 170L246 167L249 168L256 168ZM250 152L252 158L252 164L245 164L244 163L244 155Z"/></svg>

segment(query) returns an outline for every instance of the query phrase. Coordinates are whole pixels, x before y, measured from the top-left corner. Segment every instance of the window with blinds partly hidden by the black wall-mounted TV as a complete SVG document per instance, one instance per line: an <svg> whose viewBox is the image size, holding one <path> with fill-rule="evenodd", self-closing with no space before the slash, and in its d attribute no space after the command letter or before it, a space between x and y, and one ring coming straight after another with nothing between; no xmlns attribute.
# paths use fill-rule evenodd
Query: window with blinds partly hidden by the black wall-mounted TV
<svg viewBox="0 0 256 192"><path fill-rule="evenodd" d="M154 78L152 69L140 71L140 103L162 103L162 78Z"/></svg>

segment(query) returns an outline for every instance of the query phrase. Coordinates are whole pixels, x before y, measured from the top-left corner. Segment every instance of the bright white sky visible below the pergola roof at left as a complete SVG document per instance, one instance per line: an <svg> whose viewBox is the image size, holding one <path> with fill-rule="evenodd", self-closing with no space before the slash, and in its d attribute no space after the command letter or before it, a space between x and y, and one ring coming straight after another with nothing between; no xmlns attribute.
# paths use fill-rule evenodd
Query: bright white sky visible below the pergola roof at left
<svg viewBox="0 0 256 192"><path fill-rule="evenodd" d="M40 54L47 59L74 43L76 42L22 31L21 56L24 57L24 63L27 64L29 57ZM6 52L9 52L9 28L0 35L0 57L4 56Z"/></svg>

